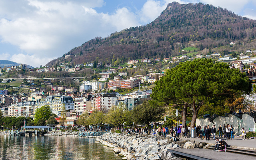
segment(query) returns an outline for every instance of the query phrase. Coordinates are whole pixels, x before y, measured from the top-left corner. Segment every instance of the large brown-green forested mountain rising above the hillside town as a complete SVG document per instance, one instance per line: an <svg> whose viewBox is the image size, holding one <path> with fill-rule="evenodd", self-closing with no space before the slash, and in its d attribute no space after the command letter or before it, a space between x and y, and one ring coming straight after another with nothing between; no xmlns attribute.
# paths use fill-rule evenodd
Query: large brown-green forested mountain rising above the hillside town
<svg viewBox="0 0 256 160"><path fill-rule="evenodd" d="M150 24L114 32L106 38L96 37L46 66L94 60L118 66L127 60L178 56L184 54L181 50L185 47L194 47L194 52L209 48L223 54L244 52L254 49L255 39L256 20L209 4L172 2ZM236 45L229 46L230 42Z"/></svg>

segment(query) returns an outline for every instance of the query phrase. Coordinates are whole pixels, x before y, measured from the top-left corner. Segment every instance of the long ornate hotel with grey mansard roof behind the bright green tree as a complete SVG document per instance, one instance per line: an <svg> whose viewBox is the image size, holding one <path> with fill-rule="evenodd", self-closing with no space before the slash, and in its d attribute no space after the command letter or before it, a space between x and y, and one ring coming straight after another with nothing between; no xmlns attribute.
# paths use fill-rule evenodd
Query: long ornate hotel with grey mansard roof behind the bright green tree
<svg viewBox="0 0 256 160"><path fill-rule="evenodd" d="M74 110L73 98L69 96L47 96L46 98L38 99L35 103L35 110L44 105L50 106L52 112L57 116L60 116L63 110Z"/></svg>

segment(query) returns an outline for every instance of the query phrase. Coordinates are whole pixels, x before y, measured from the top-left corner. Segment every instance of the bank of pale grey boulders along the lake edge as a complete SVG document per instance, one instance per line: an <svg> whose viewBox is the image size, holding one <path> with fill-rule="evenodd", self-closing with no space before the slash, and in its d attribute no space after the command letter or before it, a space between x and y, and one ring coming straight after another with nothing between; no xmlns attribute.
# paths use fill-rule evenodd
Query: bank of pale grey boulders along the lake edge
<svg viewBox="0 0 256 160"><path fill-rule="evenodd" d="M203 148L205 142L180 140L173 142L170 137L152 137L141 134L108 132L96 139L105 146L113 148L114 153L127 160L182 160L177 158L167 148Z"/></svg>

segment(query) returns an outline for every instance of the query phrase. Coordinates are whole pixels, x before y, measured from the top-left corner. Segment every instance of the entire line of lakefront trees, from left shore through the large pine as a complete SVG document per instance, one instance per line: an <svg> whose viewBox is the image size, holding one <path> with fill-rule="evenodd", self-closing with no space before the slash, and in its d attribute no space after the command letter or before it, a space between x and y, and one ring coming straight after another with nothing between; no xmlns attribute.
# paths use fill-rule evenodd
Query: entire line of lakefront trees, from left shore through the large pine
<svg viewBox="0 0 256 160"><path fill-rule="evenodd" d="M186 120L191 119L191 127L194 128L199 112L205 114L211 110L223 115L229 110L244 109L241 97L251 92L251 86L248 77L238 69L230 69L225 63L214 64L209 59L196 59L167 70L166 75L156 81L152 91L152 99L145 100L131 111L123 104L113 106L106 113L94 110L90 115L82 114L77 124L102 128L104 124L117 128L146 124L150 128L152 122L163 120L163 116L173 118L174 111L178 109L182 114L182 126L185 127ZM34 121L30 122L45 124L51 116L54 117L49 107L40 108ZM166 122L171 124L169 119ZM7 124L3 118L1 123Z"/></svg>

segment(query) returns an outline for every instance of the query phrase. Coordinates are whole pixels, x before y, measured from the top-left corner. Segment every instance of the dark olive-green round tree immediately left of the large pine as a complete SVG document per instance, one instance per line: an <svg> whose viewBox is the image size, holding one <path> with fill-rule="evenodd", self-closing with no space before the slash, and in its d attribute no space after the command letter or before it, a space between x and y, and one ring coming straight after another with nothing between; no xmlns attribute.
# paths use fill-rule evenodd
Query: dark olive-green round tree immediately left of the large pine
<svg viewBox="0 0 256 160"><path fill-rule="evenodd" d="M149 124L160 120L163 113L164 107L162 104L145 100L142 104L133 108L132 119L135 123L146 124L150 128Z"/></svg>

